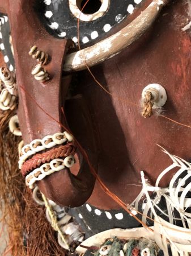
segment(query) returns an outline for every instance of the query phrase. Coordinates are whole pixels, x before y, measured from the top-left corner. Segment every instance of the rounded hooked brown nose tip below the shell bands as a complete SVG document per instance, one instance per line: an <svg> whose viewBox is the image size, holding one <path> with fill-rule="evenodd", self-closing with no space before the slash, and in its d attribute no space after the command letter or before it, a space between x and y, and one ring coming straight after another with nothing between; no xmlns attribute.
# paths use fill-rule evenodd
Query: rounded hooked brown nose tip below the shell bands
<svg viewBox="0 0 191 256"><path fill-rule="evenodd" d="M78 176L71 174L68 168L37 183L40 191L58 205L79 207L91 196L95 179L84 161ZM55 187L56 184L56 187Z"/></svg>

